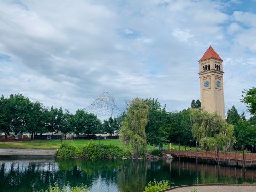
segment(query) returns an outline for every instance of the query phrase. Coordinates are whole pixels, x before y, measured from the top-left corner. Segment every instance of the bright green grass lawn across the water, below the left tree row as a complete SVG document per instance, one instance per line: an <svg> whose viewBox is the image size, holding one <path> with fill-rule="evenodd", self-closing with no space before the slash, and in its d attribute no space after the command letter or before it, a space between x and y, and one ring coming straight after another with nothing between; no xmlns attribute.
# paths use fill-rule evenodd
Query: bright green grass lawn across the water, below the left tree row
<svg viewBox="0 0 256 192"><path fill-rule="evenodd" d="M75 147L80 147L89 142L99 143L99 140L62 140L62 143L68 143ZM26 141L1 141L0 148L37 148L37 149L56 149L60 147L61 140L26 140ZM124 148L119 139L102 139L101 144L104 145L116 145ZM147 149L151 151L156 148L151 145L147 145Z"/></svg>

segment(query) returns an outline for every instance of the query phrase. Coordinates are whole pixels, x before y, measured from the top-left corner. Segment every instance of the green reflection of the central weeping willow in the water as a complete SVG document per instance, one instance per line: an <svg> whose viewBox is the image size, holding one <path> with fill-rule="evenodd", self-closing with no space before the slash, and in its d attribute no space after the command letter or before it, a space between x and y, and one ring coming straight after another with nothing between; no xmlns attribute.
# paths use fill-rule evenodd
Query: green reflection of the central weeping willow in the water
<svg viewBox="0 0 256 192"><path fill-rule="evenodd" d="M117 186L120 191L144 191L147 177L146 161L126 161L119 167Z"/></svg>

